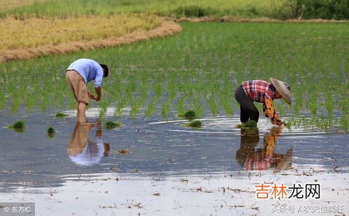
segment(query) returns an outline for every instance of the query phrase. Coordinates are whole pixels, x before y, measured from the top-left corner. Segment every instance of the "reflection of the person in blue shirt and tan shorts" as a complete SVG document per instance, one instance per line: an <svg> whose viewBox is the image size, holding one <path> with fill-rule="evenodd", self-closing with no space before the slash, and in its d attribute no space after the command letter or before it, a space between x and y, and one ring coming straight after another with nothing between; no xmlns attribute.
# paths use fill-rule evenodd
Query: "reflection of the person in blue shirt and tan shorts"
<svg viewBox="0 0 349 216"><path fill-rule="evenodd" d="M89 140L89 130L97 126L96 141ZM109 155L110 146L103 143L101 123L77 123L67 146L67 153L72 162L83 166L98 164L102 157Z"/></svg>

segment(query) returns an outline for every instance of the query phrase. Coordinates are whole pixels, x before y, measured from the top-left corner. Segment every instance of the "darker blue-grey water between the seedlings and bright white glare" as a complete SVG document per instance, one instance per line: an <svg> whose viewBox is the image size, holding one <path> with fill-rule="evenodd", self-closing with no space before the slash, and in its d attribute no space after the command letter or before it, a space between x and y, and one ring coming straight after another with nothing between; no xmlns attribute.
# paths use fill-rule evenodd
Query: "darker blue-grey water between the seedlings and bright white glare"
<svg viewBox="0 0 349 216"><path fill-rule="evenodd" d="M89 127L76 127L74 111L56 118L56 111L0 113L1 192L24 187L59 187L62 176L96 173L133 173L139 176L188 176L239 171L292 170L348 173L348 134L273 128L261 119L258 130L235 128L238 118L200 118L198 130L184 128L173 117L121 117L123 124L106 130L96 123L98 109L89 109ZM113 112L108 109L107 118ZM6 128L26 122L23 133ZM47 137L52 126L57 133ZM314 170L313 167L321 167Z"/></svg>

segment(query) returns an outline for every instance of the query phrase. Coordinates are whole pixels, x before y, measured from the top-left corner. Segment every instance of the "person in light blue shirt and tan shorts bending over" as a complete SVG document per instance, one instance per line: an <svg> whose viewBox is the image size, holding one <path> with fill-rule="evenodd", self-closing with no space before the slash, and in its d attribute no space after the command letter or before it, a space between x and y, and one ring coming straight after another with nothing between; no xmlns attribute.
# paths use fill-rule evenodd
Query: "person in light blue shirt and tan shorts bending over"
<svg viewBox="0 0 349 216"><path fill-rule="evenodd" d="M99 64L91 59L77 59L69 65L66 70L66 80L73 91L76 100L76 121L86 123L86 106L89 105L89 98L101 100L101 85L103 77L107 77L107 65ZM87 90L87 82L94 80L96 96Z"/></svg>

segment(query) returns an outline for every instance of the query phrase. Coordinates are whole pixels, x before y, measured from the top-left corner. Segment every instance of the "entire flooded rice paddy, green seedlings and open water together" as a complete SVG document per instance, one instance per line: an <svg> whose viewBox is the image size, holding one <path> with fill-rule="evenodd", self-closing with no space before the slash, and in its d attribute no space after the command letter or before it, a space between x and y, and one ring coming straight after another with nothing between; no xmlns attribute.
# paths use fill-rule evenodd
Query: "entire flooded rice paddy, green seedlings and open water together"
<svg viewBox="0 0 349 216"><path fill-rule="evenodd" d="M33 202L36 215L348 214L347 24L181 26L169 38L1 64L0 202ZM110 76L91 125L77 127L64 71L82 57ZM274 104L290 130L262 116L258 130L235 128L235 87L269 77L292 86L292 106ZM202 128L174 116L188 109ZM7 128L16 121L24 132ZM321 196L256 199L260 183L321 185Z"/></svg>

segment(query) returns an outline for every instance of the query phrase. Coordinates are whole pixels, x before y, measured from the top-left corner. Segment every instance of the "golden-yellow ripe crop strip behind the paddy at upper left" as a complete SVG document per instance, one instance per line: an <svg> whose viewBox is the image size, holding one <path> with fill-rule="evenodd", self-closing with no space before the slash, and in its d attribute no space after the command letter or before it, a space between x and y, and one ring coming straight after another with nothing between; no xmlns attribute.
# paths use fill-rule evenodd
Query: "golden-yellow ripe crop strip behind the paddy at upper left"
<svg viewBox="0 0 349 216"><path fill-rule="evenodd" d="M156 17L115 15L113 17L28 18L6 17L0 22L0 50L27 49L61 45L80 40L123 36L136 31L149 31L159 26Z"/></svg>

